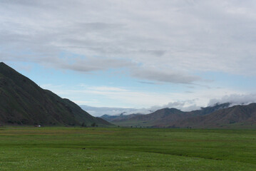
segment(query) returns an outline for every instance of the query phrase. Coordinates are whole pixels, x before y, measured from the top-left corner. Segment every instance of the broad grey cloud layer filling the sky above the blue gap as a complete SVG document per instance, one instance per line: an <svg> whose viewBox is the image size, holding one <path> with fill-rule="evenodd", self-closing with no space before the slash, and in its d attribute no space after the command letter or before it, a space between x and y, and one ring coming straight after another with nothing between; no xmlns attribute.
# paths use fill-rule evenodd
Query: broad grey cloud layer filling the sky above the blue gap
<svg viewBox="0 0 256 171"><path fill-rule="evenodd" d="M255 1L1 1L0 60L145 81L256 76ZM68 59L64 54L73 54ZM62 55L61 55L62 54ZM208 78L212 79L212 78Z"/></svg>

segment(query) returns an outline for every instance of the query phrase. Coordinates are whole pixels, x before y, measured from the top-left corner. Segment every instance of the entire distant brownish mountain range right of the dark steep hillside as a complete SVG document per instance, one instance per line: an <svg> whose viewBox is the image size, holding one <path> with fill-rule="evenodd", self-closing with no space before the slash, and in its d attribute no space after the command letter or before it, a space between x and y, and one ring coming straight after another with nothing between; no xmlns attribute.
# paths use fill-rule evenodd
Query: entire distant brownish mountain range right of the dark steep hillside
<svg viewBox="0 0 256 171"><path fill-rule="evenodd" d="M200 110L183 112L176 108L163 108L148 115L131 115L110 120L121 126L155 128L250 128L256 127L256 103L235 105L215 104Z"/></svg>

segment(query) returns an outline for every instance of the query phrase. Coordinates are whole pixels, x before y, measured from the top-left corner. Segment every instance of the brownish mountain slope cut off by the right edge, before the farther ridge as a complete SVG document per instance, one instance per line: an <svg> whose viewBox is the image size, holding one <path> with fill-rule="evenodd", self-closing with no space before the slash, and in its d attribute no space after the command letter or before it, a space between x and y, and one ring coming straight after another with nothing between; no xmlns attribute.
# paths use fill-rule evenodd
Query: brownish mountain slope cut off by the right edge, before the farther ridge
<svg viewBox="0 0 256 171"><path fill-rule="evenodd" d="M178 128L248 128L256 125L256 103L235 105L208 115L176 120L170 127Z"/></svg>

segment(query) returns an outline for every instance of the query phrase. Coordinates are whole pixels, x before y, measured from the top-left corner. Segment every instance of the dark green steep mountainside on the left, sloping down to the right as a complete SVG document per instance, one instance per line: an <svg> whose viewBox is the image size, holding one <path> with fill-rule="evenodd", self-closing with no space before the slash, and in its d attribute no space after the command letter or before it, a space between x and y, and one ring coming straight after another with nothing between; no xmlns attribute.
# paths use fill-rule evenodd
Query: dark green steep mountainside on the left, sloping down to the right
<svg viewBox="0 0 256 171"><path fill-rule="evenodd" d="M0 125L111 125L0 63Z"/></svg>

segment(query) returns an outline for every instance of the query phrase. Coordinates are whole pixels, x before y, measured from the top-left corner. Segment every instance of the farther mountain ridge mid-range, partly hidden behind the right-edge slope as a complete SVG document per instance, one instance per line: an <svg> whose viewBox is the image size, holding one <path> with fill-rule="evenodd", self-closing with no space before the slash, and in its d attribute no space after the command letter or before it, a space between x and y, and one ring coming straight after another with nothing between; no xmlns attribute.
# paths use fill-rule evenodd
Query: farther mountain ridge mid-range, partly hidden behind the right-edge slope
<svg viewBox="0 0 256 171"><path fill-rule="evenodd" d="M183 120L185 118L193 118L196 116L207 115L216 110L227 108L230 103L215 104L200 110L193 110L191 112L183 112L176 108L163 108L156 110L148 115L137 115L132 118L124 118L122 120L112 120L111 123L122 126L144 126L144 127L168 127L176 120Z"/></svg>

